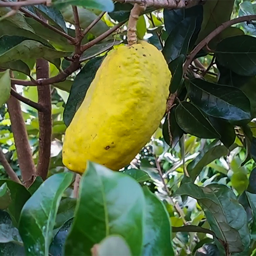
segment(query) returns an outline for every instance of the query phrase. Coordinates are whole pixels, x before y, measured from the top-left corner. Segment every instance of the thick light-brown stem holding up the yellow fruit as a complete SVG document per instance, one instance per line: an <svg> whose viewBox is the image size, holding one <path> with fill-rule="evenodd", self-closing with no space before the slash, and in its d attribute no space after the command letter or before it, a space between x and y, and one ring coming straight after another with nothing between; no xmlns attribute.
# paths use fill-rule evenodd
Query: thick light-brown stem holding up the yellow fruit
<svg viewBox="0 0 256 256"><path fill-rule="evenodd" d="M132 9L129 17L128 29L127 29L127 42L129 46L137 43L136 24L139 19L140 13L145 10L146 10L146 3L134 4L134 8Z"/></svg>

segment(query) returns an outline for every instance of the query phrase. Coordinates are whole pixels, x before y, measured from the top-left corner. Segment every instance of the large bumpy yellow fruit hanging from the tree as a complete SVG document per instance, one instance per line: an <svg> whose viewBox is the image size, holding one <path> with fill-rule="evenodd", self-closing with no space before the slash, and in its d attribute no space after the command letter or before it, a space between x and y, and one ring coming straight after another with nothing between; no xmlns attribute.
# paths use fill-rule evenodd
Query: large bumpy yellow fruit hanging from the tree
<svg viewBox="0 0 256 256"><path fill-rule="evenodd" d="M66 130L64 165L79 173L87 160L113 171L128 165L157 130L170 81L162 53L145 41L110 52Z"/></svg>

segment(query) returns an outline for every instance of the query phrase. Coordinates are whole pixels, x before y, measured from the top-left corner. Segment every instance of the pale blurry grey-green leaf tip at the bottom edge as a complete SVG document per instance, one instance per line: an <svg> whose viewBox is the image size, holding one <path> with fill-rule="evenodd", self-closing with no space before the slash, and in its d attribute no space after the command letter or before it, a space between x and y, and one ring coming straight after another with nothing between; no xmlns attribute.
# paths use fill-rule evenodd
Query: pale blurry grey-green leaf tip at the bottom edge
<svg viewBox="0 0 256 256"><path fill-rule="evenodd" d="M132 256L129 245L119 235L110 235L95 247L97 256Z"/></svg>

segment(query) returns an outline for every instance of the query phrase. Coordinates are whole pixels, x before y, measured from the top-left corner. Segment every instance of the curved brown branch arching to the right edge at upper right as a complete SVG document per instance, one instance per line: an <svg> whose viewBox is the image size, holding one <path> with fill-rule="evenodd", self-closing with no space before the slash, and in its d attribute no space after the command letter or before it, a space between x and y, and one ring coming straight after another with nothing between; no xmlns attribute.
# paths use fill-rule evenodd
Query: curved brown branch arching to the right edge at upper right
<svg viewBox="0 0 256 256"><path fill-rule="evenodd" d="M194 60L195 55L203 49L214 37L219 35L220 32L225 30L226 28L245 21L252 21L256 20L256 15L247 15L247 16L242 16L236 19L233 19L231 21L227 21L225 23L222 23L219 27L217 27L215 30L213 30L207 37L205 37L194 49L193 51L189 54L187 57L187 60L185 61L183 65L183 73L186 73L188 66L191 64L191 62Z"/></svg>

